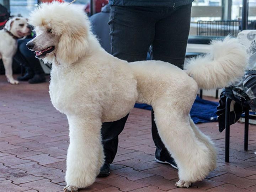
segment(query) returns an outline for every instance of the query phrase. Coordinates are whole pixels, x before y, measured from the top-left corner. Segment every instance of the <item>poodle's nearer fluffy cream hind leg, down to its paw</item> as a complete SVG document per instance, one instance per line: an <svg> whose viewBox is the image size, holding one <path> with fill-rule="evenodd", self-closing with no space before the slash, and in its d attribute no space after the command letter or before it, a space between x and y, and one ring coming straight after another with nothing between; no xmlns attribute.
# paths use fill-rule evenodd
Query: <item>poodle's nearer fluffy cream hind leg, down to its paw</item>
<svg viewBox="0 0 256 192"><path fill-rule="evenodd" d="M211 170L210 150L196 137L188 112L166 100L155 104L158 104L153 108L159 135L179 168L180 181L176 185L189 187L192 182L203 180Z"/></svg>

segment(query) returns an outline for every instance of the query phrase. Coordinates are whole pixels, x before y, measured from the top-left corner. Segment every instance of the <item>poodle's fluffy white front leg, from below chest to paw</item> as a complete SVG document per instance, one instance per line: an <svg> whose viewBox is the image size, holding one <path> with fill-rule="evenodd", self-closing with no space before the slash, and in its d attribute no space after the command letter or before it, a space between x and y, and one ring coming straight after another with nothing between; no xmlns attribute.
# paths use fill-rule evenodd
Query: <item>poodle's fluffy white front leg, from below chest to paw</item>
<svg viewBox="0 0 256 192"><path fill-rule="evenodd" d="M104 162L100 119L68 117L70 144L64 191L76 191L94 183Z"/></svg>

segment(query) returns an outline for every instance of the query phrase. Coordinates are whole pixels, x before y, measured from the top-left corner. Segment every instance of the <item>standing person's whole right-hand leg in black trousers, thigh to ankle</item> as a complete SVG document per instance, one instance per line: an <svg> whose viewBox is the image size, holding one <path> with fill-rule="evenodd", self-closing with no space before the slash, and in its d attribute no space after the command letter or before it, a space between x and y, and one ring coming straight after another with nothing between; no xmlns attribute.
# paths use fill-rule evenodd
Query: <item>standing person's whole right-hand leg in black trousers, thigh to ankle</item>
<svg viewBox="0 0 256 192"><path fill-rule="evenodd" d="M188 34L190 30L191 4L172 8L166 16L156 23L155 39L153 42L152 59L169 62L183 69ZM152 117L152 137L156 145L155 157L157 161L169 162L176 167L174 160L162 143L158 134L154 119Z"/></svg>

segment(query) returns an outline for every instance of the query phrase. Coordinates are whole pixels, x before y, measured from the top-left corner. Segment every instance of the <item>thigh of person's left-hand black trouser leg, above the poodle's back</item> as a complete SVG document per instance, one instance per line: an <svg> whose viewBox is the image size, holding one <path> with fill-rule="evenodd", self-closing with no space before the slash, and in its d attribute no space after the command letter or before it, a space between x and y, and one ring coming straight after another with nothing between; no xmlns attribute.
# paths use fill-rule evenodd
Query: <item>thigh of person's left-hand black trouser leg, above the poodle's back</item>
<svg viewBox="0 0 256 192"><path fill-rule="evenodd" d="M155 34L156 19L152 10L151 7L111 7L109 25L112 55L128 62L146 59ZM157 17L158 12L155 14Z"/></svg>

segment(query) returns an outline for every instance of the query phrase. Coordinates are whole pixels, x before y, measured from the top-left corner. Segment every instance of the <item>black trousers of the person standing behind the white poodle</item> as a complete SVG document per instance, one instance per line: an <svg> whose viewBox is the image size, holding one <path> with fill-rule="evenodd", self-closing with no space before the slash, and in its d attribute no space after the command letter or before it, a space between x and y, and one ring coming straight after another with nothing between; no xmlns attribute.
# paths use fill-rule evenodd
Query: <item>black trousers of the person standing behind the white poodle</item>
<svg viewBox="0 0 256 192"><path fill-rule="evenodd" d="M145 60L151 46L151 59L162 60L183 68L191 5L176 7L112 6L110 11L111 54L128 62ZM125 94L125 93L124 93ZM169 152L159 137L152 111L152 136L156 158L165 159ZM126 117L103 123L102 143L105 160L112 163L117 153L118 135Z"/></svg>

